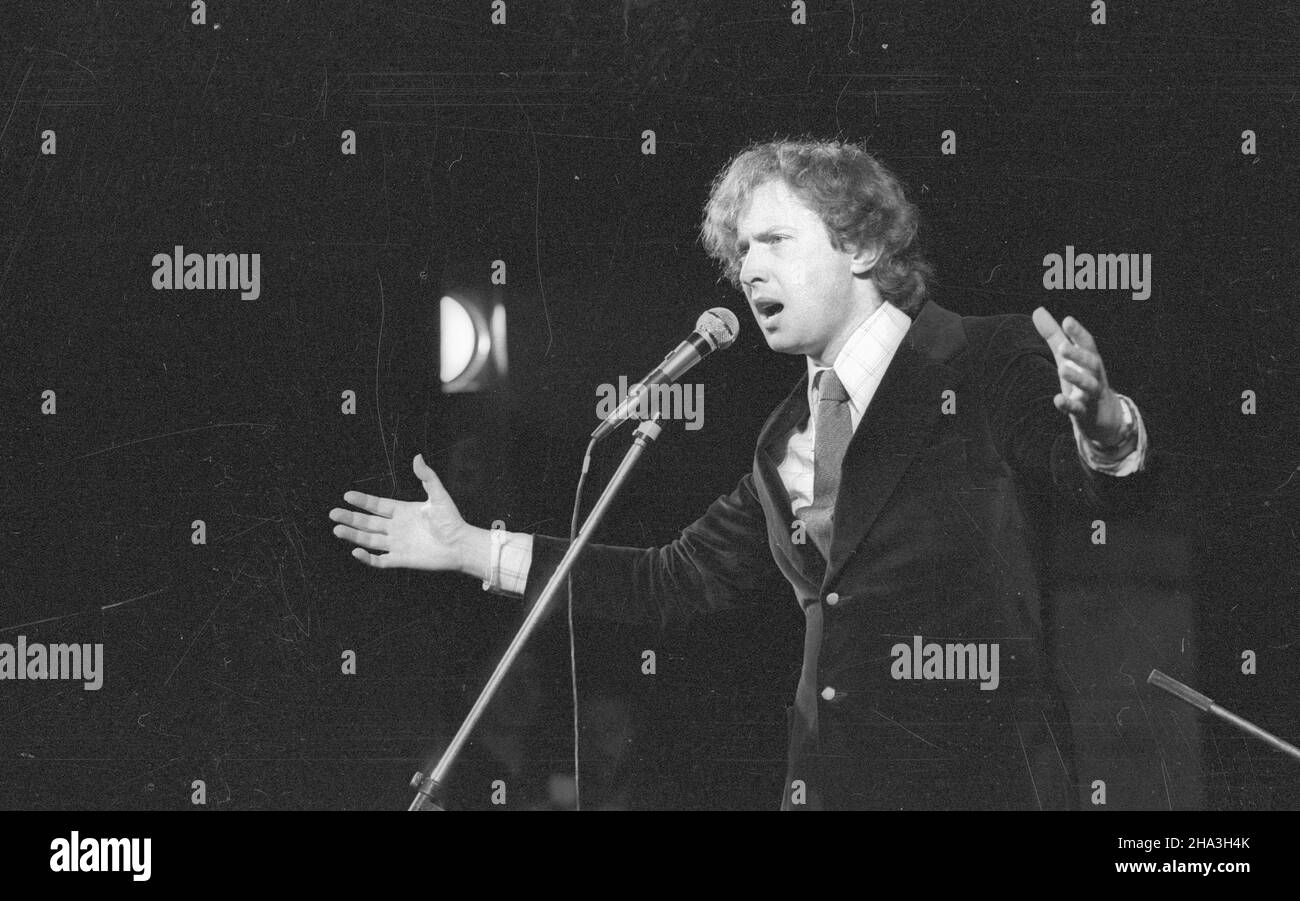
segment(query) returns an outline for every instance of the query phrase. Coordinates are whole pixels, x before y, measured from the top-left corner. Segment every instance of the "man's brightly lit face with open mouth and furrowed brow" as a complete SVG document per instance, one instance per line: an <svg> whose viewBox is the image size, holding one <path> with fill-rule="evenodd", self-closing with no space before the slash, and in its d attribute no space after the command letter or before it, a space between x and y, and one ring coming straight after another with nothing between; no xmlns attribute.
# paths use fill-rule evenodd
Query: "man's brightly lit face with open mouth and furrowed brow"
<svg viewBox="0 0 1300 901"><path fill-rule="evenodd" d="M831 365L863 319L853 252L836 250L822 218L779 178L754 190L736 230L741 285L767 346Z"/></svg>

